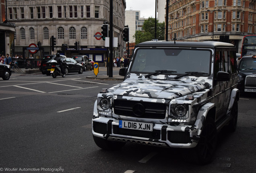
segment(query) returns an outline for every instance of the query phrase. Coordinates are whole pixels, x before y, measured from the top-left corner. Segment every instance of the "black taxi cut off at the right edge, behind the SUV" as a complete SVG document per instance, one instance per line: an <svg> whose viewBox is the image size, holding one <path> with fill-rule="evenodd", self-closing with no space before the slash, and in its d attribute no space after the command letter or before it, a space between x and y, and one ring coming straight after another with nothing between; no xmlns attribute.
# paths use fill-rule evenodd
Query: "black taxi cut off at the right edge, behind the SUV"
<svg viewBox="0 0 256 173"><path fill-rule="evenodd" d="M237 76L240 92L256 92L256 55L241 58Z"/></svg>

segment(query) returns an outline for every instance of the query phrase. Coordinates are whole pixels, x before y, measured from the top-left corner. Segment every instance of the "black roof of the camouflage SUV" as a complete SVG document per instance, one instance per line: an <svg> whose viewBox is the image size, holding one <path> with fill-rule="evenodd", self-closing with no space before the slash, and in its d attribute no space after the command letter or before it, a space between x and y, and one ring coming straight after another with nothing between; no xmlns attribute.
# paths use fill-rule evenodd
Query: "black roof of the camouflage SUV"
<svg viewBox="0 0 256 173"><path fill-rule="evenodd" d="M214 48L214 47L226 47L235 48L233 44L217 41L148 41L142 42L136 45L136 47L192 47L192 48Z"/></svg>

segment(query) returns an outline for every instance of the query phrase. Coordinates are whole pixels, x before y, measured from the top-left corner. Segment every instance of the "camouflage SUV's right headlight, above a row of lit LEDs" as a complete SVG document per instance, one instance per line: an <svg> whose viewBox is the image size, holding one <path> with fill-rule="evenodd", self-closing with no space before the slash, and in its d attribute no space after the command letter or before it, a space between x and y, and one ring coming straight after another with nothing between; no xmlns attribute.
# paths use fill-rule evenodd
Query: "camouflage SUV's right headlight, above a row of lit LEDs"
<svg viewBox="0 0 256 173"><path fill-rule="evenodd" d="M172 121L186 123L186 119L188 119L188 105L171 104L170 117Z"/></svg>

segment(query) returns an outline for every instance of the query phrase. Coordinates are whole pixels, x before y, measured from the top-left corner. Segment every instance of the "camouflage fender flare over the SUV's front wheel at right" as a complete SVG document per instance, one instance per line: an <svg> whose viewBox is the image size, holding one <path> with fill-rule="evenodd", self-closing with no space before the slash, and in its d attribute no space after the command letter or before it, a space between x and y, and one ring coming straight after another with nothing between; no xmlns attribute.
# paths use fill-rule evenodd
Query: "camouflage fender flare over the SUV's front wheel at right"
<svg viewBox="0 0 256 173"><path fill-rule="evenodd" d="M197 119L195 122L195 127L196 127L196 129L198 129L197 136L199 136L201 134L202 128L204 126L204 121L205 121L208 113L213 109L215 109L214 103L206 103L199 109L198 114L197 114ZM215 110L214 110L214 112L215 112ZM214 119L215 119L215 115L214 115Z"/></svg>

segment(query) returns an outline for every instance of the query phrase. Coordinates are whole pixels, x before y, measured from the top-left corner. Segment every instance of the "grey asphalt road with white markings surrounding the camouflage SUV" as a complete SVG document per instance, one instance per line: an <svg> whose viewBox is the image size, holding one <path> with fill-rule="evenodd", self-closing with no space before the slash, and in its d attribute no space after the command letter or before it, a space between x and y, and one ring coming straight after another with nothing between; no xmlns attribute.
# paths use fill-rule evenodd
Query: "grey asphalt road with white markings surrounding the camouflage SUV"
<svg viewBox="0 0 256 173"><path fill-rule="evenodd" d="M13 74L0 80L0 173L256 172L256 95L240 97L237 130L224 129L214 161L200 166L184 162L177 149L133 143L119 151L97 147L91 134L97 93L121 80L86 78L93 75Z"/></svg>

